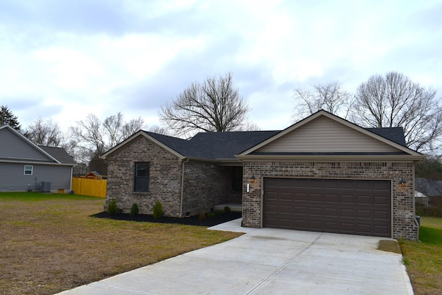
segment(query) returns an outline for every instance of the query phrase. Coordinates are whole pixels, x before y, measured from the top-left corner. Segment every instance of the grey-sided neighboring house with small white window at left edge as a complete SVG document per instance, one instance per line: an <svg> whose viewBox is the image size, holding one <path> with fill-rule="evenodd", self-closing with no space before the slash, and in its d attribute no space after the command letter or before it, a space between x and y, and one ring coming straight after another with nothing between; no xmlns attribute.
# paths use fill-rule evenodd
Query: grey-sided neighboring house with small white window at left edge
<svg viewBox="0 0 442 295"><path fill-rule="evenodd" d="M9 125L0 126L0 192L70 192L74 165L63 148L35 145Z"/></svg>

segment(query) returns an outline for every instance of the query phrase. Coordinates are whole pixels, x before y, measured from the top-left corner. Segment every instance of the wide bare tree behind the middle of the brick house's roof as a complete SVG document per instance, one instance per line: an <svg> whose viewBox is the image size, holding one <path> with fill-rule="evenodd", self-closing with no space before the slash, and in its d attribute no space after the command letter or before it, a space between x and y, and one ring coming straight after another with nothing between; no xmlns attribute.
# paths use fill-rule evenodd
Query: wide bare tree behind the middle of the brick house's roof
<svg viewBox="0 0 442 295"><path fill-rule="evenodd" d="M249 106L233 86L233 74L192 83L172 103L162 106L160 120L177 136L244 130Z"/></svg>

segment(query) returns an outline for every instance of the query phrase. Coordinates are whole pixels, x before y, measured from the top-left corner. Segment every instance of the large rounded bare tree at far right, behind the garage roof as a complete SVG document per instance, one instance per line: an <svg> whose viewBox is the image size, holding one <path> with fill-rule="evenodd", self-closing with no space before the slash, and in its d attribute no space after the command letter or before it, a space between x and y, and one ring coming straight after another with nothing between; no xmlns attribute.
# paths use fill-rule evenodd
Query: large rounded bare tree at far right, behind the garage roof
<svg viewBox="0 0 442 295"><path fill-rule="evenodd" d="M436 90L405 75L376 74L356 90L352 121L366 127L403 127L407 147L434 152L441 147L442 107Z"/></svg>

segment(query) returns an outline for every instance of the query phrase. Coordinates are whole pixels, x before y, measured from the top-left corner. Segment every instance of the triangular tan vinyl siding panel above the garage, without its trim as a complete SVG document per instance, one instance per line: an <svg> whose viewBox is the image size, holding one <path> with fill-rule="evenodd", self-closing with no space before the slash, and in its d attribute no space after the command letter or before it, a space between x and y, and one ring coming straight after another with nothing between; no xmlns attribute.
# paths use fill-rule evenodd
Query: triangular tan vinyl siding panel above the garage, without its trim
<svg viewBox="0 0 442 295"><path fill-rule="evenodd" d="M318 116L255 152L401 152L387 143Z"/></svg>

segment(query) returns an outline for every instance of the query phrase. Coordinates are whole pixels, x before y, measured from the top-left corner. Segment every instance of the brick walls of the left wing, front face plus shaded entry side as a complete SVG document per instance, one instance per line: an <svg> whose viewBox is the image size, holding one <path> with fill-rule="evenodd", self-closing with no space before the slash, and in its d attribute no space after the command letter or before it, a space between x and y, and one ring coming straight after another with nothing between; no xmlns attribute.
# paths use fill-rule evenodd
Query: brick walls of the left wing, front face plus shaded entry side
<svg viewBox="0 0 442 295"><path fill-rule="evenodd" d="M156 201L163 205L165 216L180 217L182 161L143 136L111 154L108 161L106 203L112 199L124 213L137 203L140 214L152 214ZM149 162L149 190L133 192L135 162ZM209 212L215 205L241 201L241 193L231 192L231 167L213 163L184 163L182 216ZM238 195L240 196L238 198Z"/></svg>

